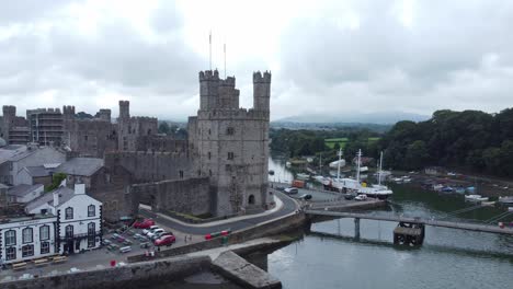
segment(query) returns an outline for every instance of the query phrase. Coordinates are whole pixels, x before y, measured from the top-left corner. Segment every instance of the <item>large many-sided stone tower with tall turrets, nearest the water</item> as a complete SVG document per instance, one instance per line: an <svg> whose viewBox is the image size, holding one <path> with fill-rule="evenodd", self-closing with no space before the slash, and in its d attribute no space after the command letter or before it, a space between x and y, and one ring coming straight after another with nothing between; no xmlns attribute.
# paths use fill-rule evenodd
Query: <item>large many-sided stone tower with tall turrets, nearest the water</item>
<svg viewBox="0 0 513 289"><path fill-rule="evenodd" d="M189 122L190 148L208 176L216 216L258 212L267 194L271 73L253 74L254 109L239 108L235 78L200 72L201 107Z"/></svg>

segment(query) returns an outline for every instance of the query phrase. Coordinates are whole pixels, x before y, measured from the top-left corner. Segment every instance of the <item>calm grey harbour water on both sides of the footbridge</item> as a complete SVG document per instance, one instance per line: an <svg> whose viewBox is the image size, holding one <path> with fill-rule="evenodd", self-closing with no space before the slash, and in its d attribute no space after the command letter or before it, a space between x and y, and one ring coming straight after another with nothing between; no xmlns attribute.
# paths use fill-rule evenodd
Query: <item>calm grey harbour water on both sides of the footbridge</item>
<svg viewBox="0 0 513 289"><path fill-rule="evenodd" d="M377 213L442 218L472 206L461 195L413 186L394 192L389 208ZM482 221L503 211L480 208L456 217ZM513 238L426 228L421 247L398 247L392 245L396 226L361 220L355 240L353 219L314 224L300 241L270 254L267 269L284 288L513 288Z"/></svg>

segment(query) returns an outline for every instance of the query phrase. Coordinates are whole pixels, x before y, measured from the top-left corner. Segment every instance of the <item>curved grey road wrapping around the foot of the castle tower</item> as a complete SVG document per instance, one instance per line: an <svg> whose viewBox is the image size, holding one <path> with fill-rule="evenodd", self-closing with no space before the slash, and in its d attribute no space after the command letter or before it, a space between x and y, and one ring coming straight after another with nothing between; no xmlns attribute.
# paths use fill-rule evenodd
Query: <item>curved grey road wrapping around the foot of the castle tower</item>
<svg viewBox="0 0 513 289"><path fill-rule="evenodd" d="M223 230L231 230L231 231L237 231L241 229L246 229L255 224L259 224L261 222L265 222L269 220L273 220L283 216L286 216L290 212L294 212L298 209L297 203L283 193L274 190L274 194L283 201L283 207L272 213L265 215L265 216L259 216L255 218L249 218L244 220L235 220L232 222L227 222L223 224L215 224L215 226L209 226L209 227L193 227L193 226L187 226L181 222L175 222L173 220L167 219L167 218L161 218L155 212L147 210L147 209L140 209L140 215L142 215L146 218L153 218L157 223L162 223L163 226L171 228L173 230L178 230L183 233L187 234L196 234L196 235L203 235L207 233L213 233L213 232L219 232Z"/></svg>

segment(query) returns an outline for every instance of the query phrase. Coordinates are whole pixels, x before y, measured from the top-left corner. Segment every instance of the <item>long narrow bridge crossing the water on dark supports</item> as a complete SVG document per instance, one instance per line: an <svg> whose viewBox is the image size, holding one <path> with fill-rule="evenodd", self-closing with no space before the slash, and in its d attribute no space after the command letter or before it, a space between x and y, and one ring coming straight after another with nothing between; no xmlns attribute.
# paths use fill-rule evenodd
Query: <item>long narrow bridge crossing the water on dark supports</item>
<svg viewBox="0 0 513 289"><path fill-rule="evenodd" d="M398 222L394 230L394 243L420 245L424 240L424 227L443 227L476 232L498 233L513 235L513 228L501 228L492 224L480 224L469 222L446 221L436 219L411 218L391 215L369 215L358 212L330 211L330 210L305 210L305 213L315 217L353 218L355 223L355 236L360 238L360 220L378 220Z"/></svg>

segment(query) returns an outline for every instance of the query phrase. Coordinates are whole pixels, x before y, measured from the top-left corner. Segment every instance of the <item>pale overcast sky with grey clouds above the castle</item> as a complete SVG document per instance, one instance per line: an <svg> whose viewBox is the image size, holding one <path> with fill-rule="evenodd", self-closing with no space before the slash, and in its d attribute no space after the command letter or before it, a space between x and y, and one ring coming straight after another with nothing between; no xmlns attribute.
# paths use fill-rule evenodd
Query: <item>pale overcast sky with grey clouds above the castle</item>
<svg viewBox="0 0 513 289"><path fill-rule="evenodd" d="M0 104L185 119L197 72L271 70L272 118L513 106L513 1L0 2Z"/></svg>

